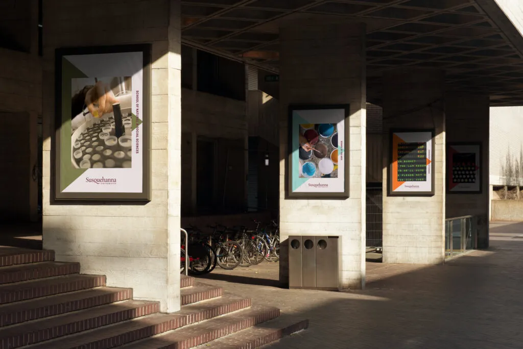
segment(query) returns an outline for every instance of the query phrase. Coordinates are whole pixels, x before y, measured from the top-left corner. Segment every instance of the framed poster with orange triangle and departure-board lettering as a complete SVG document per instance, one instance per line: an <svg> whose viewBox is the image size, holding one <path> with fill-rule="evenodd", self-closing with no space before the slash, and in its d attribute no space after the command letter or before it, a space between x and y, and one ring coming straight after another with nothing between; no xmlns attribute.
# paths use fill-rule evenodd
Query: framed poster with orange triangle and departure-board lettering
<svg viewBox="0 0 523 349"><path fill-rule="evenodd" d="M434 195L434 130L391 130L389 196Z"/></svg>

